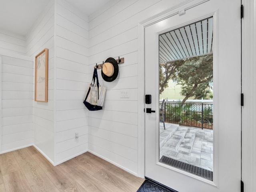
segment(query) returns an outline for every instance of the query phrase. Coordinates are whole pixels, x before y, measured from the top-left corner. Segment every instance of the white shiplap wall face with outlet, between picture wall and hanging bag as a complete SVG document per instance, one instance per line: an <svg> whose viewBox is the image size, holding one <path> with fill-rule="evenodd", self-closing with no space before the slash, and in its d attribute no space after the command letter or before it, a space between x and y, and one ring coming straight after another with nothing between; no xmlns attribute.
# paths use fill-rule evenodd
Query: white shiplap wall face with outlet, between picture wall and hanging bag
<svg viewBox="0 0 256 192"><path fill-rule="evenodd" d="M88 149L88 17L64 0L56 14L56 164ZM75 133L79 138L75 140Z"/></svg>

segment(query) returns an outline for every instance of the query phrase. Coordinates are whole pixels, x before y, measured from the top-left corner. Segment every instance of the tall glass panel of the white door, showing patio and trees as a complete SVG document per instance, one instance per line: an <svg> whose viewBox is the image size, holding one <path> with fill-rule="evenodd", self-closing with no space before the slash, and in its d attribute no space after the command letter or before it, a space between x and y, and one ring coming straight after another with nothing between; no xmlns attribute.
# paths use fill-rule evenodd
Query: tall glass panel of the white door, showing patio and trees
<svg viewBox="0 0 256 192"><path fill-rule="evenodd" d="M213 18L159 35L159 160L213 179Z"/></svg>

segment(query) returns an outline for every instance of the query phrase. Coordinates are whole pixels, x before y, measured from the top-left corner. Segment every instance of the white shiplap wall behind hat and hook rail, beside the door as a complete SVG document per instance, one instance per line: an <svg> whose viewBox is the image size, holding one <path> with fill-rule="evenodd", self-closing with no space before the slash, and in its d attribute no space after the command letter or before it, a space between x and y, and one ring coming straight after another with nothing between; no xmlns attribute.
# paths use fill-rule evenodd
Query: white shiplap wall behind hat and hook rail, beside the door
<svg viewBox="0 0 256 192"><path fill-rule="evenodd" d="M111 7L89 17L89 67L118 56L124 57L124 64L120 64L116 80L101 81L107 88L106 101L104 110L89 113L88 149L133 174L142 175L138 173L138 129L144 129L138 128L138 23L178 1L111 3ZM120 90L128 90L129 98L120 98Z"/></svg>

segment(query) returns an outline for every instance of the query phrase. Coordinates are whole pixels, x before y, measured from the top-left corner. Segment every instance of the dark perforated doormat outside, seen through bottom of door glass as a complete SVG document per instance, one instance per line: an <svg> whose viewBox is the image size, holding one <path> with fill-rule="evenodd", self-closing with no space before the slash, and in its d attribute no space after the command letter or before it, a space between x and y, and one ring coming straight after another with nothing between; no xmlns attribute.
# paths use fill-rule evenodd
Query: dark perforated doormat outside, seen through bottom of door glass
<svg viewBox="0 0 256 192"><path fill-rule="evenodd" d="M190 172L192 174L206 178L208 180L211 180L211 181L213 180L213 172L212 171L209 171L209 170L206 170L206 169L203 169L203 168L200 168L200 167L188 164L188 163L184 163L184 162L181 162L181 161L178 161L176 159L172 159L172 158L166 157L166 156L162 156L160 159L160 162L162 162L164 164L168 164L168 165L176 167L176 168L179 168L179 169L182 169L184 171Z"/></svg>

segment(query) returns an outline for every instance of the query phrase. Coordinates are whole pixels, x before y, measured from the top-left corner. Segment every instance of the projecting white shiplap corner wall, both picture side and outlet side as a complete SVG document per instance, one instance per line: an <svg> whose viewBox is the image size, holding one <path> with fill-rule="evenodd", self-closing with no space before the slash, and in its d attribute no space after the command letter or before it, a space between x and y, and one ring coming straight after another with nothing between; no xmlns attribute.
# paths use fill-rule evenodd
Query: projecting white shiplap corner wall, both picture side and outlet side
<svg viewBox="0 0 256 192"><path fill-rule="evenodd" d="M33 102L34 145L53 164L88 149L87 19L65 0L52 0L26 37L28 56L49 49L48 102Z"/></svg>

